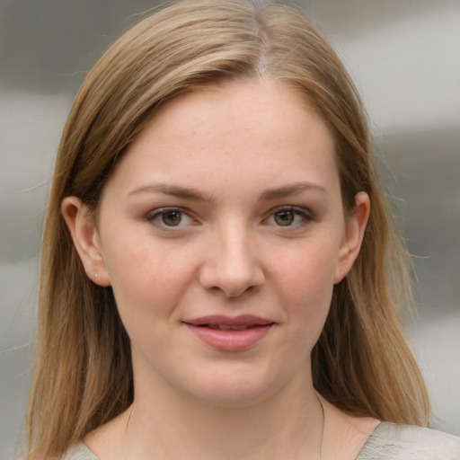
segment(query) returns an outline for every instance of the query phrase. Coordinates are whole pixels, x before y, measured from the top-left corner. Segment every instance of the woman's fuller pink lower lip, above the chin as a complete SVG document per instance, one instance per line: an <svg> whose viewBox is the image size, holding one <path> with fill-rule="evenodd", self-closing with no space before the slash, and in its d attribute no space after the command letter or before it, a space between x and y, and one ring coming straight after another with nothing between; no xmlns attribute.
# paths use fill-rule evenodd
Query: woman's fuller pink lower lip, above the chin
<svg viewBox="0 0 460 460"><path fill-rule="evenodd" d="M204 326L194 326L187 324L200 341L205 342L213 349L222 351L243 351L252 348L257 342L261 341L269 332L272 324L253 326L243 331L222 331L220 329L210 329Z"/></svg>

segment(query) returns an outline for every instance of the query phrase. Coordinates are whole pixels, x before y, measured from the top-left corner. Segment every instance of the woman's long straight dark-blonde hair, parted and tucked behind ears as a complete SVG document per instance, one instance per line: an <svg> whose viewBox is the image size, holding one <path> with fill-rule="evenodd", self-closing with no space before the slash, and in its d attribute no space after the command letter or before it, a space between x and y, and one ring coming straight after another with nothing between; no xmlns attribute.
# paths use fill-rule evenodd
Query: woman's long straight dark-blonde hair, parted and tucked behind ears
<svg viewBox="0 0 460 460"><path fill-rule="evenodd" d="M289 85L328 124L345 210L358 191L371 200L358 260L334 287L314 347L316 389L343 411L428 424L427 390L396 314L401 293L410 289L405 250L372 163L366 112L340 59L294 7L186 0L116 41L87 75L67 119L42 243L28 459L60 455L133 400L127 333L111 288L84 273L62 199L75 195L96 210L119 158L164 102L250 78Z"/></svg>

